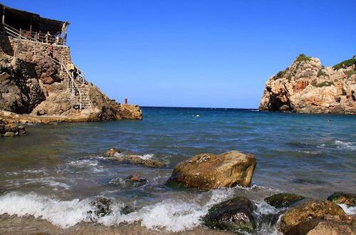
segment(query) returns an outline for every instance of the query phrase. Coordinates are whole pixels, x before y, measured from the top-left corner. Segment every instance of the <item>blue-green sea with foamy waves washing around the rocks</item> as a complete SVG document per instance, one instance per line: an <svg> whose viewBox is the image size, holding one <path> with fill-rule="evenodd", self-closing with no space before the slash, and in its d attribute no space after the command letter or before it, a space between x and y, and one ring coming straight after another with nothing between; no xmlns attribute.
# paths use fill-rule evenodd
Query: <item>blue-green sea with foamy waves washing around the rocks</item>
<svg viewBox="0 0 356 235"><path fill-rule="evenodd" d="M281 209L264 198L281 192L311 199L356 193L355 115L142 110L143 120L33 124L26 125L26 135L1 137L0 234L229 234L202 226L201 216L238 195L255 208L253 234L278 234L268 218ZM167 166L105 159L111 147ZM166 184L179 162L231 150L256 156L249 187L199 191ZM130 174L145 177L146 184L120 183ZM111 213L93 218L92 202L100 198L111 200Z"/></svg>

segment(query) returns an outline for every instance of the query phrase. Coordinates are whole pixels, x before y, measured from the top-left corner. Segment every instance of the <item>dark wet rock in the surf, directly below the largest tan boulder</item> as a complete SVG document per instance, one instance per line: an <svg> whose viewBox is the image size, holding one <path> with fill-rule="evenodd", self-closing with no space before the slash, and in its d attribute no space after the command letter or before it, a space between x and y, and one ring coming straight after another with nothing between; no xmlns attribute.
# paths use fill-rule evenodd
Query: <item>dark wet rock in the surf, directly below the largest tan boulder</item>
<svg viewBox="0 0 356 235"><path fill-rule="evenodd" d="M209 209L201 220L212 229L251 232L256 228L253 206L246 197L234 197Z"/></svg>

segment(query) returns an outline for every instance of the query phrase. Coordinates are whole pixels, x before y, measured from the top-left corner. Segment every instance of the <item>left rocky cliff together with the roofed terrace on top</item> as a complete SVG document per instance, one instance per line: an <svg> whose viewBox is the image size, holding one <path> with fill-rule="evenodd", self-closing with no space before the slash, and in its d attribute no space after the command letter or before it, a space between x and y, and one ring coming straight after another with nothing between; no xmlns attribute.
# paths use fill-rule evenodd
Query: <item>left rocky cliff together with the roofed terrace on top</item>
<svg viewBox="0 0 356 235"><path fill-rule="evenodd" d="M138 105L110 100L74 66L66 46L68 22L4 9L0 24L2 122L142 119Z"/></svg>

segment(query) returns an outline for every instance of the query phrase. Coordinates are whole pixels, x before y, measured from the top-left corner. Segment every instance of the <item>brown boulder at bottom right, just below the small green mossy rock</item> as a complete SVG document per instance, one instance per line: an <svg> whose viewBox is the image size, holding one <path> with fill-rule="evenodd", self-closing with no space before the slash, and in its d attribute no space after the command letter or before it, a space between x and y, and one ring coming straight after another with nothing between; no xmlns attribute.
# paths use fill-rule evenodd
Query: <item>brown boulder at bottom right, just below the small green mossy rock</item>
<svg viewBox="0 0 356 235"><path fill-rule="evenodd" d="M283 234L307 234L320 221L330 216L346 216L337 204L329 201L309 201L286 212L279 224Z"/></svg>

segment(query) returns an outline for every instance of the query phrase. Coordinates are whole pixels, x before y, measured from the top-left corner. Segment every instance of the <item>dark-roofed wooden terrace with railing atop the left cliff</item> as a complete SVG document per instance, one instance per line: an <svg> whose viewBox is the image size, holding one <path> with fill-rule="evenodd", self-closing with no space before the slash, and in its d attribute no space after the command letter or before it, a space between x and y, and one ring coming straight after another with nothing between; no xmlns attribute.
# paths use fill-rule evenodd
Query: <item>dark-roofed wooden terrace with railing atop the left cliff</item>
<svg viewBox="0 0 356 235"><path fill-rule="evenodd" d="M29 40L66 44L66 35L61 36L62 33L66 34L69 25L66 21L43 18L39 14L13 9L3 4L0 4L0 16L3 34L12 36L11 30L16 29L21 32L21 36ZM58 41L58 38L61 38L61 41Z"/></svg>

